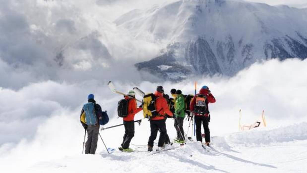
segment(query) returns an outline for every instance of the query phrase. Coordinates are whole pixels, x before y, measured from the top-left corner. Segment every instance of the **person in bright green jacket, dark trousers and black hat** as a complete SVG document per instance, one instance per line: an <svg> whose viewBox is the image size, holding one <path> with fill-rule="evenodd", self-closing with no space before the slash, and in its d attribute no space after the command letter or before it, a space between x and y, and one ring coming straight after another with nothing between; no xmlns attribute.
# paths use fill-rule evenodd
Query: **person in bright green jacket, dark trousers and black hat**
<svg viewBox="0 0 307 173"><path fill-rule="evenodd" d="M181 94L181 90L176 91L176 102L175 102L175 122L174 126L177 131L178 143L185 142L185 133L183 131L183 120L185 119L185 98Z"/></svg>

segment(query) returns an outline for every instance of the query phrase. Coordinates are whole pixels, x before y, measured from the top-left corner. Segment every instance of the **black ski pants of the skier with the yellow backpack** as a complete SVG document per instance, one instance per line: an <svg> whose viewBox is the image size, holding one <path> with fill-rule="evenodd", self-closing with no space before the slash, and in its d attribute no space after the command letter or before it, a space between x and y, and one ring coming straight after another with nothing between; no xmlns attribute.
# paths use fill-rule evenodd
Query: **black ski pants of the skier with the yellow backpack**
<svg viewBox="0 0 307 173"><path fill-rule="evenodd" d="M150 120L150 136L148 139L148 145L153 147L153 141L157 138L158 130L160 130L160 137L158 147L163 147L166 136L165 119L163 120Z"/></svg>

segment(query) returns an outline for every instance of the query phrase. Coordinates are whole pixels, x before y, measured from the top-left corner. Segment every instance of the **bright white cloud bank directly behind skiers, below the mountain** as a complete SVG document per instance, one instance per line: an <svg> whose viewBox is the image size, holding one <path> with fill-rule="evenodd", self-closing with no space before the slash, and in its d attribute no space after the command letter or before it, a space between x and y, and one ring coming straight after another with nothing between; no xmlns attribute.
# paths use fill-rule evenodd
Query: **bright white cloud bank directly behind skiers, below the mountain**
<svg viewBox="0 0 307 173"><path fill-rule="evenodd" d="M269 126L307 121L306 65L307 60L270 60L256 63L230 79L220 76L200 77L181 83L123 83L115 80L114 84L117 90L123 92L128 92L133 87L139 87L144 92L153 92L157 85L162 85L168 94L172 88L181 89L184 94L193 94L194 81L198 82L198 88L207 85L217 100L209 106L212 116L211 130L213 134L223 134L237 131L239 109L243 111L243 123L253 123L260 117L262 110L265 110ZM109 125L121 122L115 117L117 102L122 96L111 93L107 88L107 81L91 79L82 83L58 83L49 80L31 83L20 90L1 88L2 148L6 143L18 144L21 139L40 141L37 134L42 133L41 128L51 134L55 129L73 129L70 135L80 136L82 127L79 113L89 93L95 94L103 110L108 110L113 118ZM138 117L142 117L141 113ZM61 133L57 135L61 137ZM49 138L48 135L45 137Z"/></svg>

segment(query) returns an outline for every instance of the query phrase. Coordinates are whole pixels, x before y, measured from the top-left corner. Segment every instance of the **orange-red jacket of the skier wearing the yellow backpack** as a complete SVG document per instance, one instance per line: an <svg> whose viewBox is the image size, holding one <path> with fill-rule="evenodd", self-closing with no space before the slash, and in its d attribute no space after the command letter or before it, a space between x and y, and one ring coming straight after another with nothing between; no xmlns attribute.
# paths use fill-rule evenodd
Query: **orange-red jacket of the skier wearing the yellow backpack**
<svg viewBox="0 0 307 173"><path fill-rule="evenodd" d="M158 117L150 118L150 120L163 120L165 118L165 114L172 117L173 113L169 110L169 106L167 104L166 99L163 97L163 94L156 91L154 95L157 97L156 110L160 115Z"/></svg>

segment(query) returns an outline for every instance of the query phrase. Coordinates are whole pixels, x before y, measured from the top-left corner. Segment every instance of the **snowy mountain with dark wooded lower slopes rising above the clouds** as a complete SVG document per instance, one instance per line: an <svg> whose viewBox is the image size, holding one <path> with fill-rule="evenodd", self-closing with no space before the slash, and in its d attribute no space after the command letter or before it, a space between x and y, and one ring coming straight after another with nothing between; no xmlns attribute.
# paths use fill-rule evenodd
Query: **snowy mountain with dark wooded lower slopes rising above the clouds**
<svg viewBox="0 0 307 173"><path fill-rule="evenodd" d="M168 79L234 75L261 60L307 57L306 9L233 0L181 0L133 10L115 23L135 38L166 43L160 56L135 66ZM161 69L161 65L169 68Z"/></svg>

